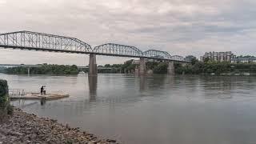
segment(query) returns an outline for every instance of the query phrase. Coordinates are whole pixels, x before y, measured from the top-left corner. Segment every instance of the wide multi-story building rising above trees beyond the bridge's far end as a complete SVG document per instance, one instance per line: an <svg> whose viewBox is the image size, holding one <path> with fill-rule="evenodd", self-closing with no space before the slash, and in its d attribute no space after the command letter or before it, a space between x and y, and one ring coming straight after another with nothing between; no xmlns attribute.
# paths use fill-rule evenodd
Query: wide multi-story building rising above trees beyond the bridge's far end
<svg viewBox="0 0 256 144"><path fill-rule="evenodd" d="M226 52L206 52L202 57L200 57L201 61L204 61L206 58L209 58L211 61L218 62L231 62L232 58L236 58L236 56L231 51Z"/></svg>

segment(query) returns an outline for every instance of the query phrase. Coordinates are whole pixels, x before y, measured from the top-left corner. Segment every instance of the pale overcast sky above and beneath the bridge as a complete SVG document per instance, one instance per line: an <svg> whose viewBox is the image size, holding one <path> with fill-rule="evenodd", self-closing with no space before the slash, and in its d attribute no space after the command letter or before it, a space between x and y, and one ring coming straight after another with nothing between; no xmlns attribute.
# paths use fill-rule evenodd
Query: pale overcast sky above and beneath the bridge
<svg viewBox="0 0 256 144"><path fill-rule="evenodd" d="M182 56L213 50L256 55L256 1L0 0L0 33L17 30L75 37L93 47L114 42ZM43 62L84 66L88 56L0 50L0 63Z"/></svg>

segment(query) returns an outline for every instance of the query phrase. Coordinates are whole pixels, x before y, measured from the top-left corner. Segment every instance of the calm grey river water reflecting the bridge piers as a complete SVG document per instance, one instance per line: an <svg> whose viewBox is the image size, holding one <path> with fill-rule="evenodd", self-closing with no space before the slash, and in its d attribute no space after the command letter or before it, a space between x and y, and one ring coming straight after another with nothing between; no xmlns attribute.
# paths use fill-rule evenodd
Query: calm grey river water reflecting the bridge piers
<svg viewBox="0 0 256 144"><path fill-rule="evenodd" d="M58 119L118 142L163 144L256 143L256 77L136 77L99 74L98 78L7 75L10 89L62 91L70 98L14 101L28 113Z"/></svg>

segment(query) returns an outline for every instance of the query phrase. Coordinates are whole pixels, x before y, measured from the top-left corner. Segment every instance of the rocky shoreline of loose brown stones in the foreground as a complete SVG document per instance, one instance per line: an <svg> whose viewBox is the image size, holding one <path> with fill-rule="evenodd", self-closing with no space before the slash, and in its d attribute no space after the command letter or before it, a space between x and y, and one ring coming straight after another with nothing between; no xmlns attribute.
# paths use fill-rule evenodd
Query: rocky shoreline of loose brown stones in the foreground
<svg viewBox="0 0 256 144"><path fill-rule="evenodd" d="M13 143L86 143L86 144L116 144L115 140L99 139L89 134L62 125L57 120L38 118L34 114L26 114L15 108L14 114L5 123L0 123L0 144Z"/></svg>

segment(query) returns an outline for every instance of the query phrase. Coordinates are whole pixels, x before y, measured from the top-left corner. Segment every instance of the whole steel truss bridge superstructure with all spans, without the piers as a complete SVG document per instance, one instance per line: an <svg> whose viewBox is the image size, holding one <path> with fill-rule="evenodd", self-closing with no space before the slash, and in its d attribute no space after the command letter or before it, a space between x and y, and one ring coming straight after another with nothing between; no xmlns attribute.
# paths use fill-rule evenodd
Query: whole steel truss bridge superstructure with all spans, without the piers
<svg viewBox="0 0 256 144"><path fill-rule="evenodd" d="M92 49L89 44L82 42L78 38L43 34L26 30L0 34L0 47L5 49L12 48L20 50L40 50L189 62L182 56L170 55L166 51L146 50L143 52L135 46L125 46L114 43L106 43L101 46L95 46L94 49Z"/></svg>

